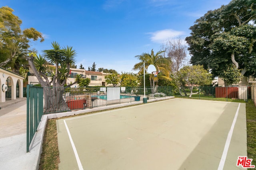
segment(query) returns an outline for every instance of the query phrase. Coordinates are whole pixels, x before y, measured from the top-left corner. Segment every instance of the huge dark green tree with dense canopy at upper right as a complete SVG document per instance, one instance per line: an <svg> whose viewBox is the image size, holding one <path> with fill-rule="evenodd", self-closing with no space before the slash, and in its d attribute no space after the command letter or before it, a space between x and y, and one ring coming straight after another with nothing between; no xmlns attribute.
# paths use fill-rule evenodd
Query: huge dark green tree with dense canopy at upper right
<svg viewBox="0 0 256 170"><path fill-rule="evenodd" d="M255 0L232 0L208 11L190 27L191 36L186 37L190 62L210 68L214 76L229 79L228 84L237 81L237 72L240 77L256 77L255 20ZM227 70L229 74L223 74ZM230 80L231 74L234 80Z"/></svg>

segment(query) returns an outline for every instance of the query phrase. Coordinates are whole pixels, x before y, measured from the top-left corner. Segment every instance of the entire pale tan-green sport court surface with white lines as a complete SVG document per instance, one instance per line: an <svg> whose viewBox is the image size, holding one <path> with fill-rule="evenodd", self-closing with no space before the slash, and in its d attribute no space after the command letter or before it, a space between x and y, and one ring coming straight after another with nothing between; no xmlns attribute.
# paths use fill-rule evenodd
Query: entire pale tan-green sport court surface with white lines
<svg viewBox="0 0 256 170"><path fill-rule="evenodd" d="M235 170L247 156L244 103L176 98L58 119L57 130L60 170Z"/></svg>

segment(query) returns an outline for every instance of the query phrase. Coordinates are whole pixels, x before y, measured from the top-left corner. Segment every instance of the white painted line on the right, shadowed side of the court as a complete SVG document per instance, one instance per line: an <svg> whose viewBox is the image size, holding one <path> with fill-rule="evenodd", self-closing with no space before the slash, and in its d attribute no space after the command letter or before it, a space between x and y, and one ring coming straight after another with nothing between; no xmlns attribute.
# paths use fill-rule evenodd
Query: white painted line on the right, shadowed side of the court
<svg viewBox="0 0 256 170"><path fill-rule="evenodd" d="M230 131L228 132L228 137L227 137L225 147L224 147L221 159L220 159L220 164L219 164L218 170L223 170L223 168L224 168L224 164L225 164L226 157L227 157L227 154L228 154L228 148L229 148L230 141L231 141L231 138L232 138L232 134L233 134L233 131L234 131L234 127L235 127L235 124L236 124L236 119L237 119L237 116L238 116L238 111L239 111L239 108L240 108L240 104L241 103L239 103L239 105L237 107L236 114L235 114L235 117L233 119L233 123L231 125Z"/></svg>

